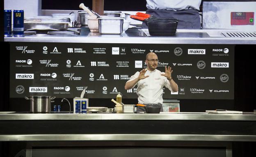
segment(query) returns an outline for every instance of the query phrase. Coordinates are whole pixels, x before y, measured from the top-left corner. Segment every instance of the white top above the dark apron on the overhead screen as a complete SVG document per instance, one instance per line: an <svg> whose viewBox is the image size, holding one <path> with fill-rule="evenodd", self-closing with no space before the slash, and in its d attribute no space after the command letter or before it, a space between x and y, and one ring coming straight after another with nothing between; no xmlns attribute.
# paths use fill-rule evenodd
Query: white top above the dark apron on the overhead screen
<svg viewBox="0 0 256 157"><path fill-rule="evenodd" d="M195 9L199 11L201 0L146 0L148 9L180 11Z"/></svg>

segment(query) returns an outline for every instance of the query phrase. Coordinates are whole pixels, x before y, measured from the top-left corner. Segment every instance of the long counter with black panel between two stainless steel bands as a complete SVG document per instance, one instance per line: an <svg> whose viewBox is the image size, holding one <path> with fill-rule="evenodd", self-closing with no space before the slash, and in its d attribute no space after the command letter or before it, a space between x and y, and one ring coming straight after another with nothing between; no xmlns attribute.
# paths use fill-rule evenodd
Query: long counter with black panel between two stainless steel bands
<svg viewBox="0 0 256 157"><path fill-rule="evenodd" d="M0 141L256 141L256 115L0 113Z"/></svg>

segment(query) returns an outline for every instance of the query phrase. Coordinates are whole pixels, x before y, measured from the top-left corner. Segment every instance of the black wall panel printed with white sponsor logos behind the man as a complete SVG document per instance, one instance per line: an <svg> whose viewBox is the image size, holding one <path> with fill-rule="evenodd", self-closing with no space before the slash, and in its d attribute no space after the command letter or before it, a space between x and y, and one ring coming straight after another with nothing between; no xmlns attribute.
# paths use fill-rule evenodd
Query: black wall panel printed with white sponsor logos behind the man
<svg viewBox="0 0 256 157"><path fill-rule="evenodd" d="M233 99L234 45L10 43L10 97L52 95L87 98L137 98L137 86L124 85L146 68L149 52L158 70L171 66L179 86L164 88L164 99Z"/></svg>

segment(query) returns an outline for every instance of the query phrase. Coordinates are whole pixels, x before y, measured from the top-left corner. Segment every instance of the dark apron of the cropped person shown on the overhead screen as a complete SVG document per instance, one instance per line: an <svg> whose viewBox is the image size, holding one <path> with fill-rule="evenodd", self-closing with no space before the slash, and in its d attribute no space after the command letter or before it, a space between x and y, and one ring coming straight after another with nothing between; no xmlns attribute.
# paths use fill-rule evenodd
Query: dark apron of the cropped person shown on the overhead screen
<svg viewBox="0 0 256 157"><path fill-rule="evenodd" d="M147 9L146 13L156 18L176 18L178 19L177 29L201 29L199 13L195 9L181 11ZM148 28L146 22L142 23L142 28Z"/></svg>

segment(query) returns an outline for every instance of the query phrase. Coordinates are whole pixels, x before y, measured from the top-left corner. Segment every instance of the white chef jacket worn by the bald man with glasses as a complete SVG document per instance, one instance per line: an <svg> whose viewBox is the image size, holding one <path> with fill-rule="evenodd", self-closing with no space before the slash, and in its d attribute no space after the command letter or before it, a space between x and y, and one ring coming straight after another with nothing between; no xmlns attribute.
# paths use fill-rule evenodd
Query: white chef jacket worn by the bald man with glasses
<svg viewBox="0 0 256 157"><path fill-rule="evenodd" d="M137 84L137 95L139 104L162 104L163 86L167 87L170 91L171 85L169 80L165 76L162 76L163 72L155 69L154 71L147 70L145 73L149 75L145 79L139 80ZM136 79L139 76L139 71L131 76L129 81ZM133 86L134 87L134 86Z"/></svg>

